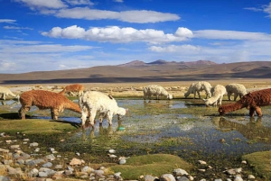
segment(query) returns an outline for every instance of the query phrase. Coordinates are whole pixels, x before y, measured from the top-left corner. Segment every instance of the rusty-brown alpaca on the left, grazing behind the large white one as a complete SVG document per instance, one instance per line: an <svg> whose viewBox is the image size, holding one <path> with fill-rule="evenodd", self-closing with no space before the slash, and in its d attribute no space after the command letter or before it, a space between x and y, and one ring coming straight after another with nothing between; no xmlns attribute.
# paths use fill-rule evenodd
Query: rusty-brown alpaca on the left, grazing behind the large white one
<svg viewBox="0 0 271 181"><path fill-rule="evenodd" d="M64 109L81 113L79 104L73 103L64 95L45 90L23 92L20 96L20 103L22 107L19 110L19 116L22 120L25 119L25 113L28 112L33 105L39 109L51 109L52 120L58 120L59 113L63 112Z"/></svg>

